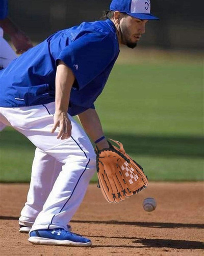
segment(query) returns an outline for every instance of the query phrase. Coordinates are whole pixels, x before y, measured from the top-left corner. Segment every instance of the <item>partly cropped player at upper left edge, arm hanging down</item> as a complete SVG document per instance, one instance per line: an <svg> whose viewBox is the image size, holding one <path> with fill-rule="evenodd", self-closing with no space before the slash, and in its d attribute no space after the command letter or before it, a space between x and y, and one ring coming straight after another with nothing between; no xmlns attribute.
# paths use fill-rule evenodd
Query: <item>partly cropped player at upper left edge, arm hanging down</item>
<svg viewBox="0 0 204 256"><path fill-rule="evenodd" d="M17 54L33 47L29 37L8 17L8 0L0 0L0 70L6 68L17 57L14 50L3 38L4 32L10 36Z"/></svg>

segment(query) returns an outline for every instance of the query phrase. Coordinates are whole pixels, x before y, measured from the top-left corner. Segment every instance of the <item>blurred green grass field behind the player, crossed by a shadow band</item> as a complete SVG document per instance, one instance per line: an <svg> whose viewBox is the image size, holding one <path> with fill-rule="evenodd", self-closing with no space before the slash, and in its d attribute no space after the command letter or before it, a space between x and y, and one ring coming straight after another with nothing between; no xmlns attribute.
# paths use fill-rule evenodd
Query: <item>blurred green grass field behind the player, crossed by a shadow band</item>
<svg viewBox="0 0 204 256"><path fill-rule="evenodd" d="M122 51L96 109L149 180L203 180L203 65L197 55ZM35 147L0 133L1 182L29 182ZM92 181L96 181L96 176Z"/></svg>

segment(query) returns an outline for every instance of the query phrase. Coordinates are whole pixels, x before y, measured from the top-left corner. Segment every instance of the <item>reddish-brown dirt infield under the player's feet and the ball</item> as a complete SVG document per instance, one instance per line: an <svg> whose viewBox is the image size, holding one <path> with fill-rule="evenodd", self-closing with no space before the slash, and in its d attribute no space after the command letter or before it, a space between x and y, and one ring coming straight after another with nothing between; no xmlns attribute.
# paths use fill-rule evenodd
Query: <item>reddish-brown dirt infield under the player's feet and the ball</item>
<svg viewBox="0 0 204 256"><path fill-rule="evenodd" d="M109 204L95 184L71 221L91 247L32 245L18 232L27 184L1 184L1 255L203 255L203 182L154 183L137 196ZM155 197L153 212L142 208Z"/></svg>

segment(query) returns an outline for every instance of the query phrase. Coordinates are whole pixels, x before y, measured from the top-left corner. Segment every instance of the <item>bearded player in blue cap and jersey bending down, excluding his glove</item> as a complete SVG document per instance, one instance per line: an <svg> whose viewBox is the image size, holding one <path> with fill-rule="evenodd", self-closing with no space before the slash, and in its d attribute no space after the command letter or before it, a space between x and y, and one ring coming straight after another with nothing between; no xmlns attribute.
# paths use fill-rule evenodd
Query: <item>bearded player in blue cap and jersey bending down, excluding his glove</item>
<svg viewBox="0 0 204 256"><path fill-rule="evenodd" d="M32 224L34 244L91 245L67 223L96 170L89 138L98 150L109 147L94 102L120 45L135 48L148 20L158 19L149 0L113 0L106 15L106 20L57 31L0 72L0 124L13 126L37 147L19 220L25 227ZM55 172L56 161L61 164Z"/></svg>

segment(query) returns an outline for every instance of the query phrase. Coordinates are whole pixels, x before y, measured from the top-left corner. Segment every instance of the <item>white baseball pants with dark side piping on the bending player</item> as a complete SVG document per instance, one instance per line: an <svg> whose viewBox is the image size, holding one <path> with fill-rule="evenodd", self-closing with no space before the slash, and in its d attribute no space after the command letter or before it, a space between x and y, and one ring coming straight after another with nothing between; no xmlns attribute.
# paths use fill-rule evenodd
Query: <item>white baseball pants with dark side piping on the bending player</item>
<svg viewBox="0 0 204 256"><path fill-rule="evenodd" d="M50 133L54 113L54 102L23 108L0 108L0 126L13 126L37 146L28 201L20 217L24 223L35 221L32 230L66 229L96 170L92 144L72 117L69 116L72 124L70 138L58 140L58 132Z"/></svg>

